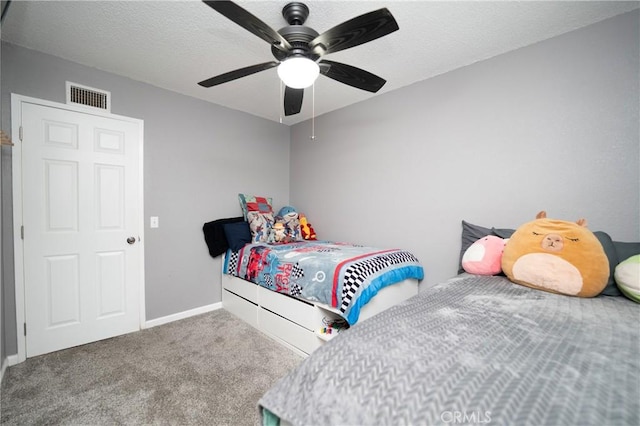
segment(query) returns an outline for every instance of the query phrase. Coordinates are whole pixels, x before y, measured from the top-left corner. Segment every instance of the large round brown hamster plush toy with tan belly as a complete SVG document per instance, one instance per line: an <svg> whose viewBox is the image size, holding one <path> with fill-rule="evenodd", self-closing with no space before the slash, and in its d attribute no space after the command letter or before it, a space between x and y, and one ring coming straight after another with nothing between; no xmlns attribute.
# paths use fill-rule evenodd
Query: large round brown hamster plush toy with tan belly
<svg viewBox="0 0 640 426"><path fill-rule="evenodd" d="M607 285L609 261L598 238L577 222L547 219L520 226L507 242L502 270L513 282L570 296L593 297Z"/></svg>

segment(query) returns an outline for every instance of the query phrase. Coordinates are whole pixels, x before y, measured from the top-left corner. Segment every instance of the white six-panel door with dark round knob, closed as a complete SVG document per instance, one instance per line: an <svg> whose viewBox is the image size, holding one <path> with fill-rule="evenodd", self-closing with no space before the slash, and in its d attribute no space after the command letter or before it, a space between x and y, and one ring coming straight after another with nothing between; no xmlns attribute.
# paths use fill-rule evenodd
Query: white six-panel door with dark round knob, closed
<svg viewBox="0 0 640 426"><path fill-rule="evenodd" d="M140 123L21 114L26 356L139 330Z"/></svg>

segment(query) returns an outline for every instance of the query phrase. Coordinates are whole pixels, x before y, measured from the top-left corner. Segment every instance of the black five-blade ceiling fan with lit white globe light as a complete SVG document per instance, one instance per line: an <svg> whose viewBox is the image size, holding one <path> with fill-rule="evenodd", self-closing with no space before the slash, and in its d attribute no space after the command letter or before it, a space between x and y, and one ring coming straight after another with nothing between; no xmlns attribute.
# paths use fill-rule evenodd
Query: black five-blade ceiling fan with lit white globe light
<svg viewBox="0 0 640 426"><path fill-rule="evenodd" d="M304 88L311 86L318 74L373 93L386 83L385 79L360 68L320 59L326 54L359 46L398 30L396 20L386 8L357 16L319 34L304 26L309 8L301 2L284 6L282 16L289 25L276 31L232 1L203 1L269 43L276 60L211 77L199 82L200 86L212 87L278 67L278 75L286 85L284 112L288 116L300 112ZM301 77L304 81L298 81Z"/></svg>

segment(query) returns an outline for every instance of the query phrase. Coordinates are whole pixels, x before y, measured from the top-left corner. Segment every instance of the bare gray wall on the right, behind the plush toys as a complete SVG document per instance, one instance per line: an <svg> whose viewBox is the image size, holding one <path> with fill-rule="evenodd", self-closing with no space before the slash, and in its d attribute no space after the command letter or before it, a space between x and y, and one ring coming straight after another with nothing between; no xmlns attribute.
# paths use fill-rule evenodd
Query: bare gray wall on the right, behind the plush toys
<svg viewBox="0 0 640 426"><path fill-rule="evenodd" d="M318 235L457 272L461 220L540 210L640 241L638 11L376 97L291 132L291 203Z"/></svg>

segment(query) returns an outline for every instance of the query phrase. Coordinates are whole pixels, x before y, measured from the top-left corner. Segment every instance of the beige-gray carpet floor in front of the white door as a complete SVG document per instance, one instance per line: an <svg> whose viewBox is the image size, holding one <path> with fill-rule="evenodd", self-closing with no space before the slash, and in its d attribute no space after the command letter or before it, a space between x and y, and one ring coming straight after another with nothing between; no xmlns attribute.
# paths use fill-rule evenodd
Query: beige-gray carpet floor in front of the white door
<svg viewBox="0 0 640 426"><path fill-rule="evenodd" d="M221 309L9 367L0 423L256 425L301 361Z"/></svg>

